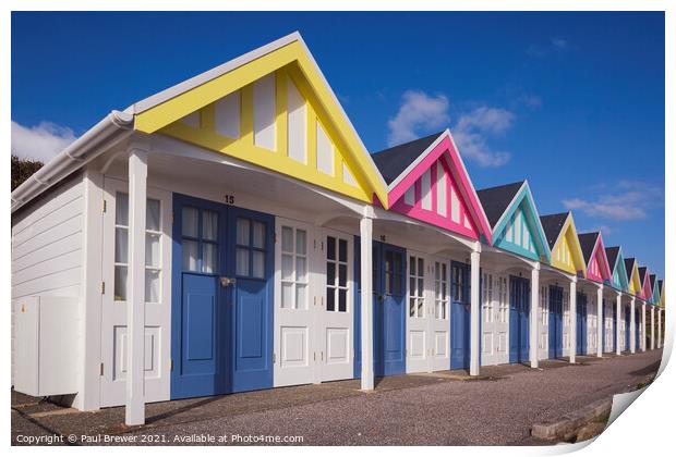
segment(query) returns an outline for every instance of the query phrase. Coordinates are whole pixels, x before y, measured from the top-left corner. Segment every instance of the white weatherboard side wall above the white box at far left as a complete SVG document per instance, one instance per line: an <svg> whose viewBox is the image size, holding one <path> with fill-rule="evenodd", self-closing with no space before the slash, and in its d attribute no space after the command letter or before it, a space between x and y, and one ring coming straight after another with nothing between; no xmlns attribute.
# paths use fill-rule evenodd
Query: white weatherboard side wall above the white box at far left
<svg viewBox="0 0 676 457"><path fill-rule="evenodd" d="M34 295L81 297L83 208L82 175L76 174L12 218L12 300Z"/></svg>

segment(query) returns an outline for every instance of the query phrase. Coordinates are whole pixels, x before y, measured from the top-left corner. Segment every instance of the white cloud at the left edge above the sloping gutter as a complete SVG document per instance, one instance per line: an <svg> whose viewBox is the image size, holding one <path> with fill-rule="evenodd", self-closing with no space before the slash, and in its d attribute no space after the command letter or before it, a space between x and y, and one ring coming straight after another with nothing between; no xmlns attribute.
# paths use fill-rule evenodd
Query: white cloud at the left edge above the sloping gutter
<svg viewBox="0 0 676 457"><path fill-rule="evenodd" d="M51 122L26 127L12 121L12 153L47 163L75 140L73 131Z"/></svg>

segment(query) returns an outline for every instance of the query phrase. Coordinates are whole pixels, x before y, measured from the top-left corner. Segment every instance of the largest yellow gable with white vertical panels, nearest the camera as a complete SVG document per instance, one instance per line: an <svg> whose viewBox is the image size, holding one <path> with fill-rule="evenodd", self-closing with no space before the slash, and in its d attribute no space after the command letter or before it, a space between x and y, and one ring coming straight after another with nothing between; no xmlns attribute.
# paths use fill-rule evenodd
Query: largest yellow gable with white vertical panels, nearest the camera
<svg viewBox="0 0 676 457"><path fill-rule="evenodd" d="M300 37L144 109L135 128L387 205L383 178Z"/></svg>

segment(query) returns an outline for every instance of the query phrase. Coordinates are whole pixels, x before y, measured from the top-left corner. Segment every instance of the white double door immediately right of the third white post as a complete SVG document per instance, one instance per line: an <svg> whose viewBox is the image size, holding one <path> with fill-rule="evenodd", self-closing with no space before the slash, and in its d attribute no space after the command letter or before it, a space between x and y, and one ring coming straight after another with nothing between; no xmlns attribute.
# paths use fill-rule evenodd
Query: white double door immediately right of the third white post
<svg viewBox="0 0 676 457"><path fill-rule="evenodd" d="M482 270L481 365L509 361L509 301L507 276Z"/></svg>

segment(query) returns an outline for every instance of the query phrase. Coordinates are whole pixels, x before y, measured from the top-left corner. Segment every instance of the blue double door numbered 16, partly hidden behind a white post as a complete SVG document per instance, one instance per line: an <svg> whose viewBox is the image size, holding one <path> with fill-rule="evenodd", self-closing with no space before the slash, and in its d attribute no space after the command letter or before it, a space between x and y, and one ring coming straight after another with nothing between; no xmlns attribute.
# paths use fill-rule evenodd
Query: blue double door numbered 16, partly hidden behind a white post
<svg viewBox="0 0 676 457"><path fill-rule="evenodd" d="M373 242L373 370L406 372L406 249ZM361 249L354 238L354 378L361 378Z"/></svg>

